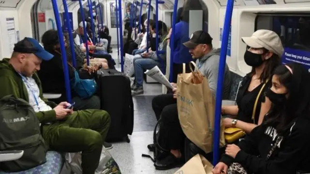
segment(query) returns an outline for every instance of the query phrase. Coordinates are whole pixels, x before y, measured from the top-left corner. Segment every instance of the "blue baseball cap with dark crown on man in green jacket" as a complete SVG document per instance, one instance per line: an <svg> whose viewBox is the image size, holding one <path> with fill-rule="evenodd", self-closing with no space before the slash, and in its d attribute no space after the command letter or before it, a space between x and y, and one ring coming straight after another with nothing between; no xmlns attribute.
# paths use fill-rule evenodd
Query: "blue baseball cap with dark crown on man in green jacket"
<svg viewBox="0 0 310 174"><path fill-rule="evenodd" d="M37 40L30 37L25 37L23 40L17 42L14 51L20 53L32 53L44 61L49 61L54 57L54 55L47 52Z"/></svg>

